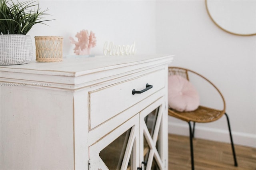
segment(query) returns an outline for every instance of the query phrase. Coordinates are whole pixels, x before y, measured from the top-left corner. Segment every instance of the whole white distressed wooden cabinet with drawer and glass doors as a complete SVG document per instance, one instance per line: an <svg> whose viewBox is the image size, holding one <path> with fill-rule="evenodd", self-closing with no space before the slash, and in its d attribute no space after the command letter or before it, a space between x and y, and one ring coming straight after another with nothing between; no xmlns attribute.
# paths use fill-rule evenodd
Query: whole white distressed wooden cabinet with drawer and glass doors
<svg viewBox="0 0 256 170"><path fill-rule="evenodd" d="M96 56L1 66L0 168L168 169L171 61Z"/></svg>

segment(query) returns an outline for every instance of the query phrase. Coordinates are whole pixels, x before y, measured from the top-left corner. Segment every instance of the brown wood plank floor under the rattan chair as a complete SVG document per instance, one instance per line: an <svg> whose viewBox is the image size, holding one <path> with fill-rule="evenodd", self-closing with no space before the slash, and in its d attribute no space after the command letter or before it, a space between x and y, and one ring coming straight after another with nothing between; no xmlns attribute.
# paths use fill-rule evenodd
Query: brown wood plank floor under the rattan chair
<svg viewBox="0 0 256 170"><path fill-rule="evenodd" d="M256 170L256 148L235 145L238 167L229 143L194 138L195 170ZM169 170L190 170L187 136L169 134Z"/></svg>

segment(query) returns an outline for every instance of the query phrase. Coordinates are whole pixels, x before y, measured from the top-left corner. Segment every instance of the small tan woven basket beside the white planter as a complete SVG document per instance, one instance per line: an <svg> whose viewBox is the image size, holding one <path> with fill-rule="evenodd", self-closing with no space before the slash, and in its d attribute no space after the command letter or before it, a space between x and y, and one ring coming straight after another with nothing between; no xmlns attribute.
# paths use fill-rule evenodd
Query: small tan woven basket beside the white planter
<svg viewBox="0 0 256 170"><path fill-rule="evenodd" d="M60 36L36 36L36 61L58 62L62 61L62 42Z"/></svg>

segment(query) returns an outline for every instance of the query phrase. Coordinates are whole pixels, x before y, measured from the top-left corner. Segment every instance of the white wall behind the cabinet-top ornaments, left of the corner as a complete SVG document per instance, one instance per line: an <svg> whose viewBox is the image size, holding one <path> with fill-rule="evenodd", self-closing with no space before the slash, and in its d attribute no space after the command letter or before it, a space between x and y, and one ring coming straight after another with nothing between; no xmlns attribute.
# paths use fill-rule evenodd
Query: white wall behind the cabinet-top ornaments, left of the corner
<svg viewBox="0 0 256 170"><path fill-rule="evenodd" d="M74 55L75 38L80 30L95 33L97 44L91 54L103 55L106 41L114 44L136 43L136 54L155 53L155 2L154 1L75 1L40 0L41 10L48 8L46 19L56 19L36 24L28 35L63 36L63 56ZM75 40L77 40L75 38ZM35 49L35 45L34 45Z"/></svg>

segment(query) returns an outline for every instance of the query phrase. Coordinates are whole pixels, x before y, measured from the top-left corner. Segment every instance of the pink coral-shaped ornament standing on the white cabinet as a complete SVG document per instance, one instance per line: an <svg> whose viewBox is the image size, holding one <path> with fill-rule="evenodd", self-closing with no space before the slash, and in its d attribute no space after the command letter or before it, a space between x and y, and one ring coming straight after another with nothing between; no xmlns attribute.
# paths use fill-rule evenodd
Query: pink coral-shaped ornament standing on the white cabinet
<svg viewBox="0 0 256 170"><path fill-rule="evenodd" d="M82 30L76 34L78 41L70 37L71 43L75 44L74 53L76 55L89 55L92 47L96 46L95 34L91 31L90 35L87 30Z"/></svg>

